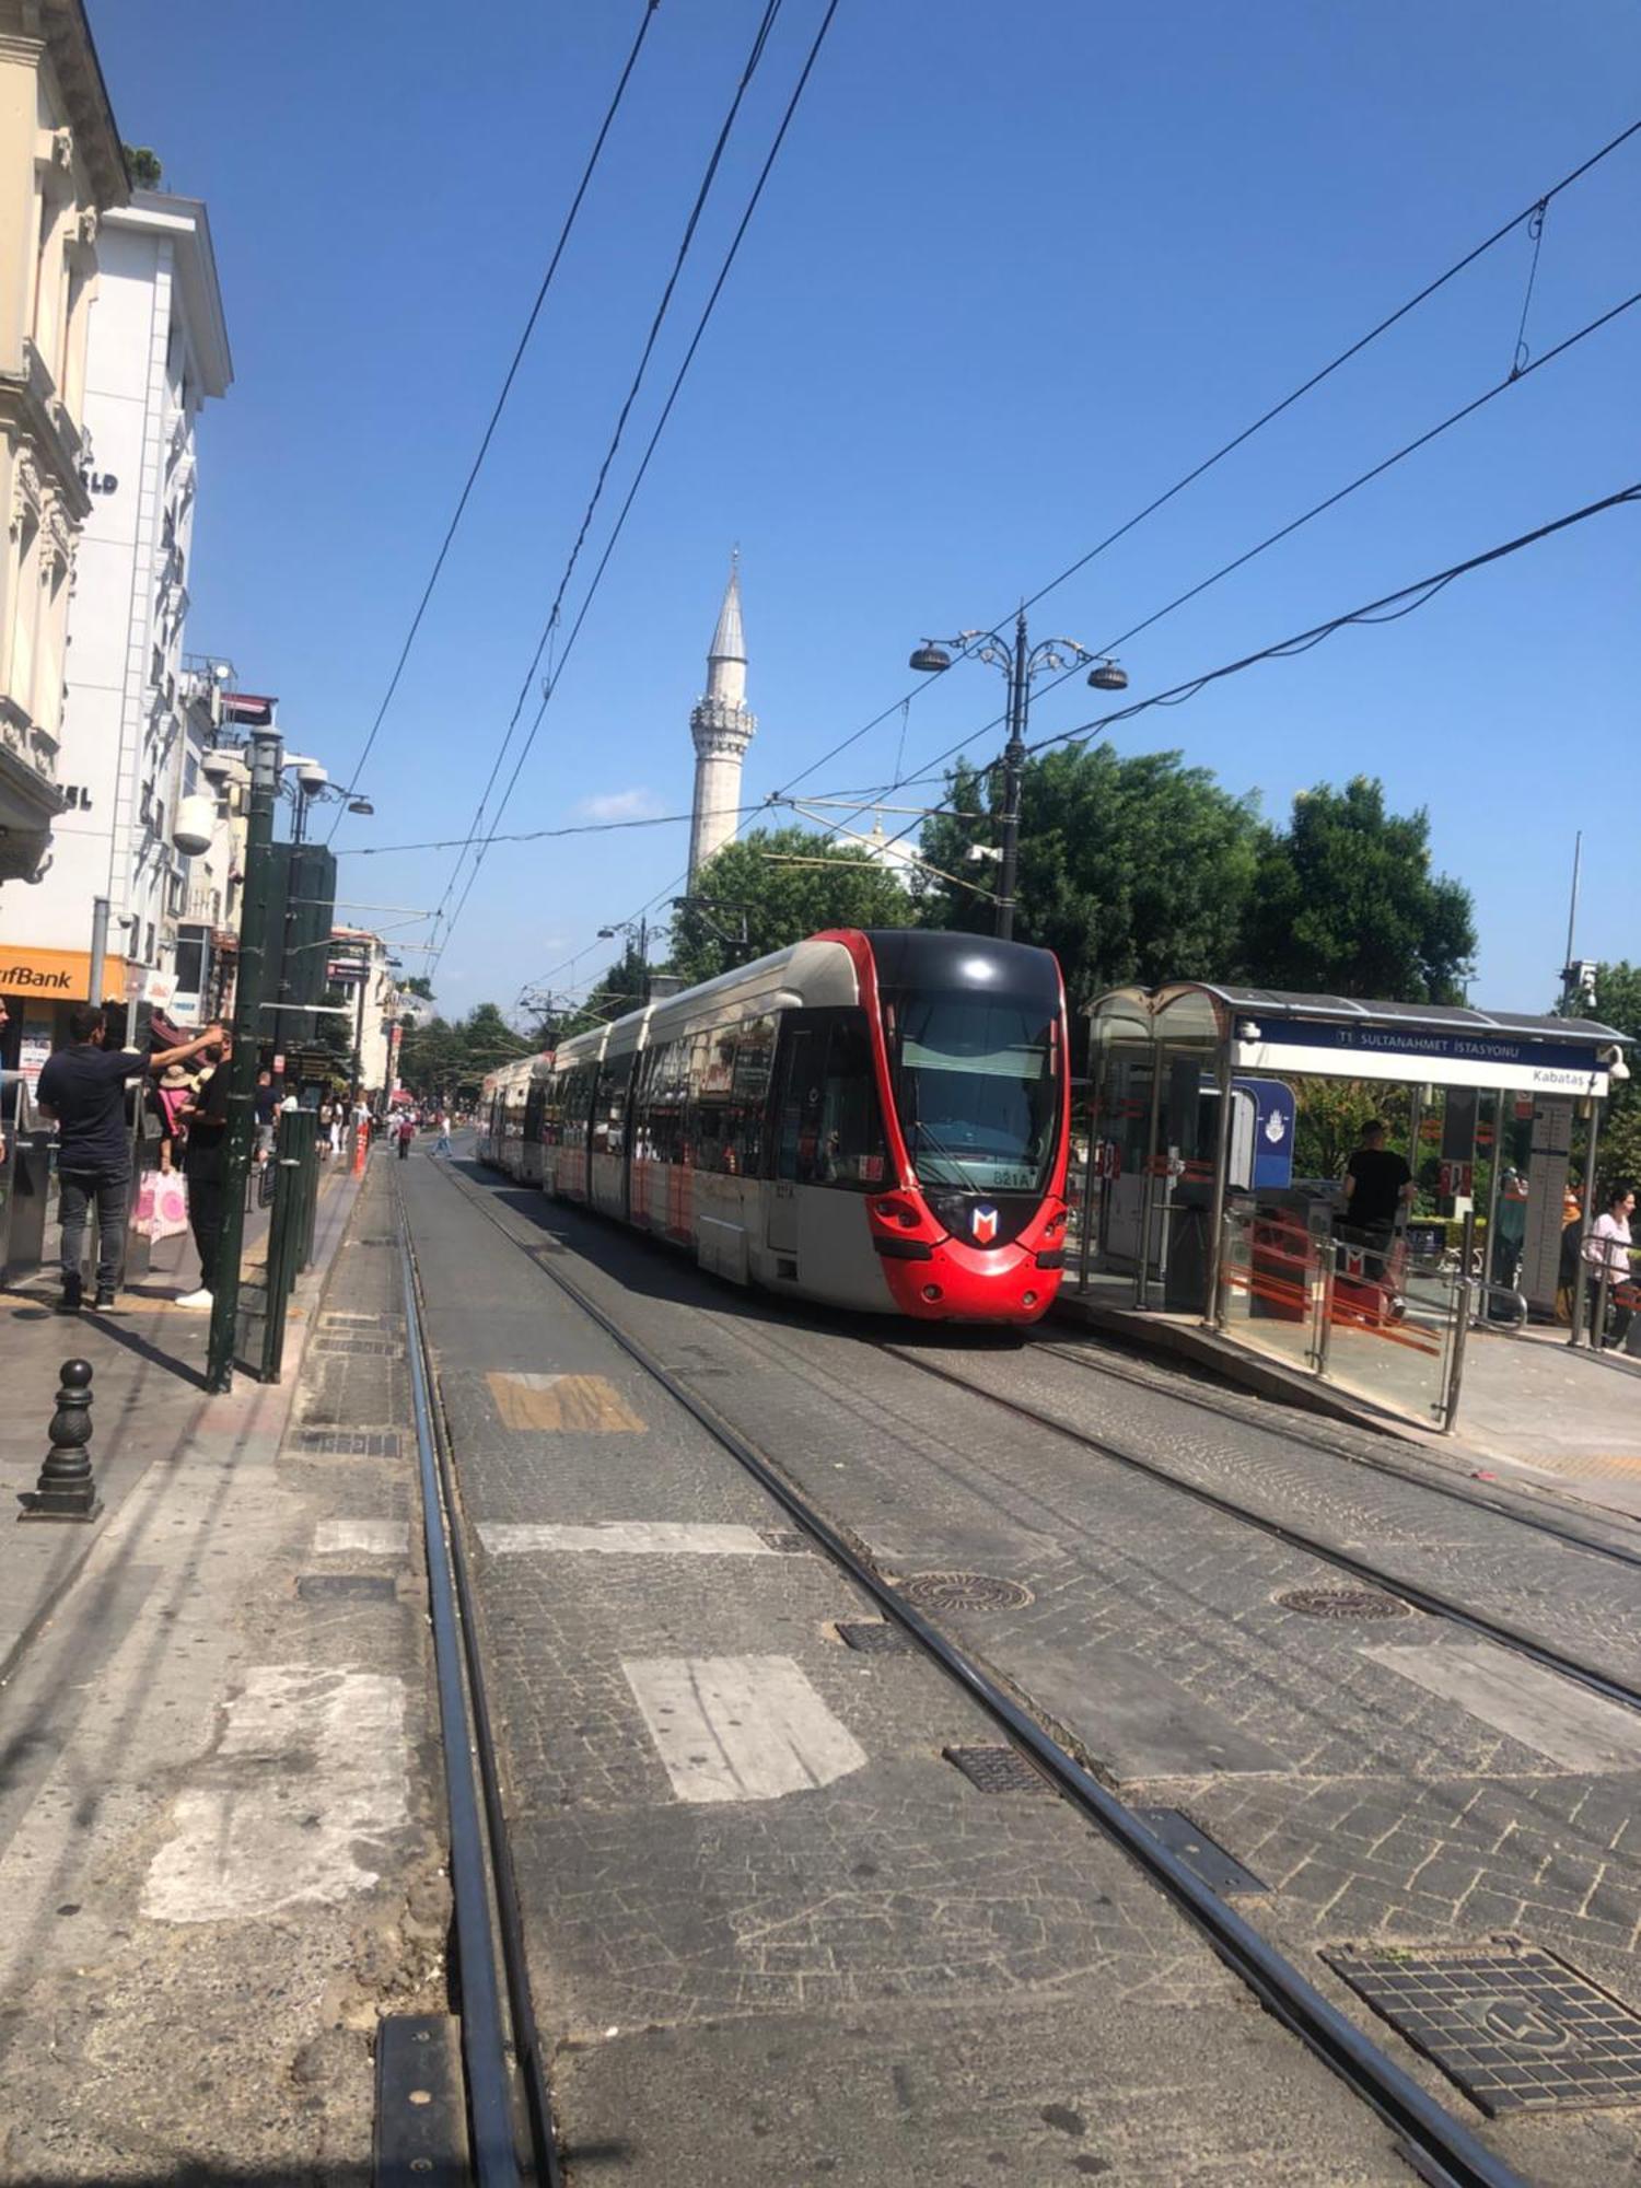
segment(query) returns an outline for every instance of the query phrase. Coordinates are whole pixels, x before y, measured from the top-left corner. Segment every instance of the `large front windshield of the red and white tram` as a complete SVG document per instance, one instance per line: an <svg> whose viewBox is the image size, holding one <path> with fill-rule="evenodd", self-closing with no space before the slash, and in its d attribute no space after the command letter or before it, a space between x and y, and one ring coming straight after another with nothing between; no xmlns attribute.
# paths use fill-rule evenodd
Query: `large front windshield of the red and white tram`
<svg viewBox="0 0 1641 2188"><path fill-rule="evenodd" d="M926 1186L1039 1192L1055 1155L1057 1022L1006 996L899 996L886 1013L895 1109Z"/></svg>

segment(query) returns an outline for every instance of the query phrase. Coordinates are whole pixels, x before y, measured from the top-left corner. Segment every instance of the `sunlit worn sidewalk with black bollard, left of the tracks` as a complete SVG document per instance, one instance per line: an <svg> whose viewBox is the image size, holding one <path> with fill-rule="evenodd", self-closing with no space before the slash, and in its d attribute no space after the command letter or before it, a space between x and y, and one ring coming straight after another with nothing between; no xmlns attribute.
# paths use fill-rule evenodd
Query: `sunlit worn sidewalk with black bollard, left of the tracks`
<svg viewBox="0 0 1641 2188"><path fill-rule="evenodd" d="M4 2184L363 2188L376 2020L442 2009L398 1267L368 1249L385 1192L381 1166L326 1190L280 1385L208 1400L203 1317L158 1297L79 1326L0 1304L7 1490L81 1350L109 1503L0 1521ZM326 1420L379 1427L372 1455Z"/></svg>

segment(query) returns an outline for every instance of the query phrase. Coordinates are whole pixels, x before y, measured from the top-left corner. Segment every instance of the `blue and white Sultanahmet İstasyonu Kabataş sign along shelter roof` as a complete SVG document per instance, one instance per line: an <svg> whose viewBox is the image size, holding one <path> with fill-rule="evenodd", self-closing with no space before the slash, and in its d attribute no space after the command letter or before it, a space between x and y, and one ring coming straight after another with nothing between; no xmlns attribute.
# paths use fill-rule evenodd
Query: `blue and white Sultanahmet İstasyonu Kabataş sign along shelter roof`
<svg viewBox="0 0 1641 2188"><path fill-rule="evenodd" d="M1510 1033L1420 1033L1413 1026L1276 1022L1256 1041L1232 1041L1238 1072L1319 1072L1330 1079L1427 1081L1534 1094L1608 1092L1593 1041L1534 1041Z"/></svg>

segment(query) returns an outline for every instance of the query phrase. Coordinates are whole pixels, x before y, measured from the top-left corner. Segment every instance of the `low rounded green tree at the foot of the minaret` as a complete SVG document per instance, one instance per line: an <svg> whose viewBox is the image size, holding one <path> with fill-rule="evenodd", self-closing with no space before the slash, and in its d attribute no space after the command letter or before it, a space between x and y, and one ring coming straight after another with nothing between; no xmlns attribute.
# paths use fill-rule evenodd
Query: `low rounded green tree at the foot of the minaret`
<svg viewBox="0 0 1641 2188"><path fill-rule="evenodd" d="M886 866L803 827L724 845L689 895L705 901L685 904L672 926L672 969L691 985L823 928L908 928L917 917Z"/></svg>

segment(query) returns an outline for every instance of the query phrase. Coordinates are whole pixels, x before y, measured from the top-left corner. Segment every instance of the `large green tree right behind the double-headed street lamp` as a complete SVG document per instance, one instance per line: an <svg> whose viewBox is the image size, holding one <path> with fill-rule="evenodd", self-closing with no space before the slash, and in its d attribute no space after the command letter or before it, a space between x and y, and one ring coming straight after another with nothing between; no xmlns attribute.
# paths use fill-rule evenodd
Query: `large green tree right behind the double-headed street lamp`
<svg viewBox="0 0 1641 2188"><path fill-rule="evenodd" d="M961 768L945 803L923 858L996 891L996 862L969 860L969 847L998 842L1000 770ZM1015 936L1059 956L1072 1009L1129 980L1234 978L1258 840L1254 801L1179 753L1096 744L1028 759ZM991 930L989 897L928 875L919 888L930 926Z"/></svg>

